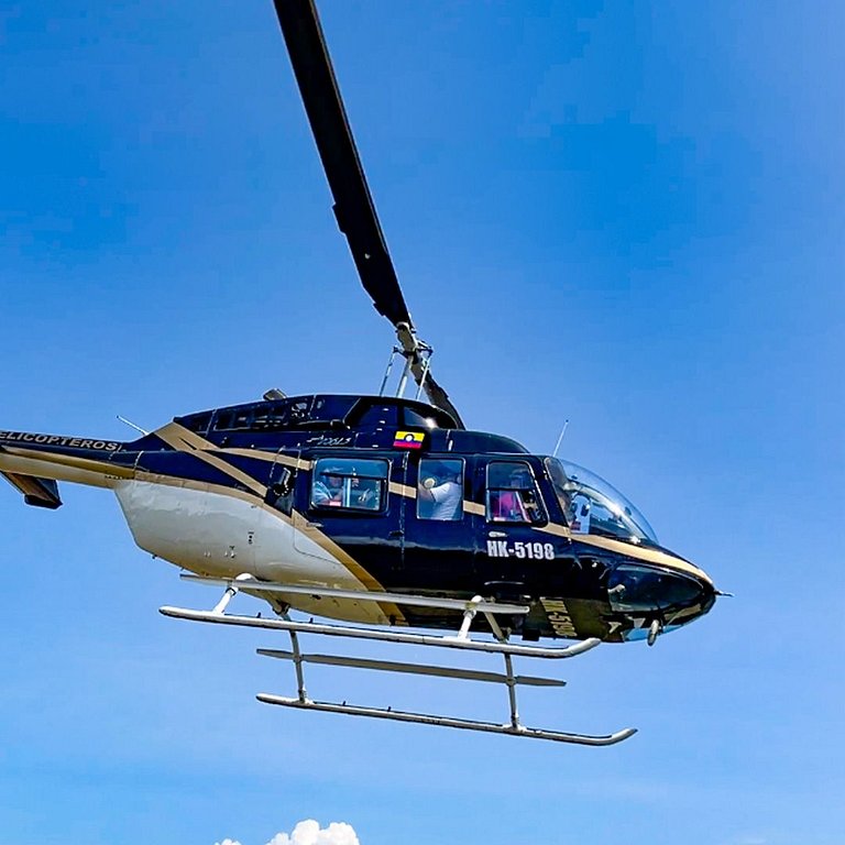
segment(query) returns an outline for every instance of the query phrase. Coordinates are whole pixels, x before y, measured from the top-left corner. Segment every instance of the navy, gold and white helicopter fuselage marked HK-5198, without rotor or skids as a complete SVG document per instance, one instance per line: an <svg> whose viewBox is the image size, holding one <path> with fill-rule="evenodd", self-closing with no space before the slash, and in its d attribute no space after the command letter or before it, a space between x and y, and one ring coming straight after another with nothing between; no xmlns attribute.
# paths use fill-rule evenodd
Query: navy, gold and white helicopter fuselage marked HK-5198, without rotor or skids
<svg viewBox="0 0 845 845"><path fill-rule="evenodd" d="M54 480L114 489L139 545L201 574L350 583L327 574L331 564L364 589L528 601L513 619L526 639L643 638L655 619L678 627L715 597L702 570L638 533L622 506L580 498L557 459L420 402L257 402L177 417L132 442L0 431L0 471L48 507L61 504ZM447 491L456 507L443 516L432 498ZM226 503L241 508L231 529ZM440 608L385 616L456 626Z"/></svg>

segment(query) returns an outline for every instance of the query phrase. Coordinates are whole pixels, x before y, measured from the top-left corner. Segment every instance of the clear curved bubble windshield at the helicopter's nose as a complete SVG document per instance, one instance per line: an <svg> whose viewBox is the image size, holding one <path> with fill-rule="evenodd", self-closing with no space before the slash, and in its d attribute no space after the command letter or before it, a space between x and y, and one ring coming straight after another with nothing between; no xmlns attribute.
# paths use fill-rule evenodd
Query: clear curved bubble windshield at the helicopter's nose
<svg viewBox="0 0 845 845"><path fill-rule="evenodd" d="M558 458L547 458L546 469L573 534L659 545L648 519L604 479Z"/></svg>

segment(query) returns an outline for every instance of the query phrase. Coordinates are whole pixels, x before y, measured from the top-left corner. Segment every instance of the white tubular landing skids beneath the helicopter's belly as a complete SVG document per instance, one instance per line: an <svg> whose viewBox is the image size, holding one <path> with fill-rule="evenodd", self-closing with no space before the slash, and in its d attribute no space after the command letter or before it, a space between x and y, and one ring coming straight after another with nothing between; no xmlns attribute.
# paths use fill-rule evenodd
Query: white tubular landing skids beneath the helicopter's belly
<svg viewBox="0 0 845 845"><path fill-rule="evenodd" d="M463 731L478 731L489 734L506 734L535 739L548 739L557 743L573 743L578 745L614 745L627 739L636 733L636 728L625 728L614 734L592 736L589 734L563 733L538 727L527 727L519 718L516 702L516 688L527 687L563 687L566 681L555 678L538 678L514 673L514 657L530 657L544 660L559 660L584 654L595 648L600 640L585 639L566 647L524 646L508 641L507 634L500 627L496 615L526 614L525 605L503 604L489 601L482 596L463 601L456 599L439 599L434 596L404 595L398 593L356 592L347 590L331 590L328 588L303 588L277 583L265 583L253 579L251 575L239 575L237 579L211 579L198 575L183 575L186 580L226 586L222 599L211 611L194 611L184 607L161 607L160 612L165 616L191 622L208 622L217 625L238 625L250 628L264 628L285 630L290 637L290 650L257 649L263 657L272 657L281 660L289 660L294 665L297 682L297 696L287 698L270 693L259 693L259 701L266 704L276 704L283 707L296 707L298 710L316 710L323 713L342 713L350 716L369 716L371 718L386 718L394 722L409 722L422 725L439 725L441 727L454 727ZM238 616L227 614L226 607L231 599L239 592L281 592L281 593L307 593L323 597L355 599L356 601L389 602L407 606L442 607L445 610L460 610L463 612L463 622L456 634L431 635L397 630L396 628L366 628L328 623L297 622L287 616L285 618L262 618L261 616ZM470 627L475 616L482 613L495 634L495 640L473 639L470 636ZM366 639L383 643L399 643L431 648L460 649L464 651L481 651L497 654L504 659L504 672L489 672L460 667L428 666L416 662L399 662L393 660L374 660L342 655L316 655L305 654L299 647L299 634L310 634L323 637L341 637L345 639ZM500 683L507 689L509 720L504 724L481 722L469 718L457 718L446 715L429 713L409 713L392 707L367 707L343 702L314 701L308 698L305 688L305 663L319 663L323 666L352 667L371 671L385 671L400 674L418 674L440 678L457 678L476 683Z"/></svg>

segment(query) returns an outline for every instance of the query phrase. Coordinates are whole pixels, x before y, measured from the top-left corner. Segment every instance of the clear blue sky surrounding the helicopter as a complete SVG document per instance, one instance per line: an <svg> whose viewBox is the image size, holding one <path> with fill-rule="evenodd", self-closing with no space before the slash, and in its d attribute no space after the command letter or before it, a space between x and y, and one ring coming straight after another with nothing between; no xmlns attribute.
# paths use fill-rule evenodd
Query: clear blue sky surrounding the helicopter
<svg viewBox="0 0 845 845"><path fill-rule="evenodd" d="M320 11L388 244L468 422L623 490L736 597L566 667L558 747L277 712L266 635L132 544L117 503L0 491L0 845L838 845L845 86L839 3ZM0 425L377 389L358 283L272 3L0 12ZM504 718L345 674L350 701ZM330 696L315 674L315 694ZM555 692L555 691L552 691Z"/></svg>

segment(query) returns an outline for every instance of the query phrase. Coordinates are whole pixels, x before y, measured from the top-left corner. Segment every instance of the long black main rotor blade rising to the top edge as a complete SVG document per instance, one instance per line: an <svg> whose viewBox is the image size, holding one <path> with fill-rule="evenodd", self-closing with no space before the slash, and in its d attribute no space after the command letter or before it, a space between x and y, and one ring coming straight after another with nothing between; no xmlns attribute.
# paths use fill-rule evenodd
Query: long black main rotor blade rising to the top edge
<svg viewBox="0 0 845 845"><path fill-rule="evenodd" d="M312 0L274 0L282 34L334 198L334 216L347 237L364 289L394 326L413 327L396 271L375 213L349 120Z"/></svg>

